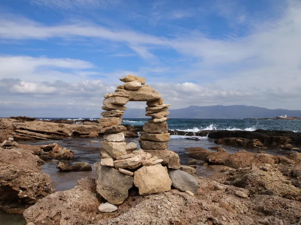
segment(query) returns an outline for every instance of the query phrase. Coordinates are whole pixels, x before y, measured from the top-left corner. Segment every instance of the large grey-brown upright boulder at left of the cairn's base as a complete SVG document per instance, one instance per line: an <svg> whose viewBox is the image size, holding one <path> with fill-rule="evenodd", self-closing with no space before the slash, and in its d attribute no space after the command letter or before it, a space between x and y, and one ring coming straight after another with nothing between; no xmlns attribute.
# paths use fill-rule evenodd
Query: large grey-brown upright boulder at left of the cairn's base
<svg viewBox="0 0 301 225"><path fill-rule="evenodd" d="M128 196L128 189L133 186L133 177L121 173L113 167L94 164L96 171L96 190L108 202L121 204Z"/></svg>

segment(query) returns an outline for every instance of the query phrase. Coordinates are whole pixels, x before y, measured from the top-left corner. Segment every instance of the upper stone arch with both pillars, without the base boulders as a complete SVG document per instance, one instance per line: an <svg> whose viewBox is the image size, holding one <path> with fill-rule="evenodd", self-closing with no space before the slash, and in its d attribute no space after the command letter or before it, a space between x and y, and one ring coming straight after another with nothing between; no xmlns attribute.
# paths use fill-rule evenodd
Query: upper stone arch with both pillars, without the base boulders
<svg viewBox="0 0 301 225"><path fill-rule="evenodd" d="M145 101L145 115L151 118L144 123L144 132L141 132L140 138L137 139L141 149L162 158L163 164L169 168L179 168L179 155L168 150L170 133L166 120L170 104L164 104L161 94L145 84L146 79L143 77L126 75L120 80L124 82L123 85L118 85L115 92L104 95L102 109L105 111L101 112L103 118L99 119L100 125L105 127L105 141L102 142L102 147L114 158L126 154L126 143L124 135L121 134L126 130L126 127L121 125L126 110L125 104L128 101ZM108 135L112 133L115 133L114 138L113 135ZM119 137L117 133L120 134Z"/></svg>

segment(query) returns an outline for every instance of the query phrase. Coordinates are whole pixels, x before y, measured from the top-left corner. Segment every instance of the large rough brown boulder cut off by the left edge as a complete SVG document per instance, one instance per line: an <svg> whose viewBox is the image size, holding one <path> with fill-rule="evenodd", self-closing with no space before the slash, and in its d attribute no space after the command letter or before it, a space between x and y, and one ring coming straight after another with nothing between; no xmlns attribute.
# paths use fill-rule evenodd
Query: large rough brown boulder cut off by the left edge
<svg viewBox="0 0 301 225"><path fill-rule="evenodd" d="M40 165L41 159L24 149L0 147L0 202L32 204L53 193Z"/></svg>

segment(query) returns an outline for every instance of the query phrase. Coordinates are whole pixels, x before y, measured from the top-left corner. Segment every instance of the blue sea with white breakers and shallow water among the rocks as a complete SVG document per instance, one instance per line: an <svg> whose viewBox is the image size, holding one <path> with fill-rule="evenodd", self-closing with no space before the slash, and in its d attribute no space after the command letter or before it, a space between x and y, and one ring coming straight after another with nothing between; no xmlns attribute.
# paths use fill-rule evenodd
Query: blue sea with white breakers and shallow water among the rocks
<svg viewBox="0 0 301 225"><path fill-rule="evenodd" d="M51 119L68 119L74 120L74 123L80 123L82 119L96 120L97 118L38 118L41 120ZM147 118L123 118L123 124L131 125L143 125L147 121ZM169 119L169 129L198 132L202 130L247 130L254 131L256 129L267 129L267 130L289 130L293 132L301 132L301 120L272 120L272 119ZM192 158L187 156L185 148L187 147L203 147L209 149L211 146L215 146L214 140L207 136L198 137L198 139L192 138L193 136L185 135L171 135L171 141L169 142L169 149L177 152L181 159L181 164L187 165L188 161ZM57 142L63 147L67 147L73 150L75 153L74 160L85 161L92 165L92 171L81 171L81 172L60 172L56 168L58 161L50 160L42 165L42 171L50 175L52 179L52 186L56 191L68 190L75 186L78 179L86 176L95 177L94 174L94 163L99 161L100 152L100 141L103 138L66 138L63 140L41 140L41 141L18 141L19 143L42 145ZM96 142L95 142L96 141ZM136 138L126 138L126 142L133 141L139 143ZM234 153L243 148L223 146L227 152ZM246 149L248 151L256 153L257 150ZM280 149L266 150L270 154L285 154L285 151ZM216 178L220 175L219 165L198 165L197 175L199 177ZM0 225L23 225L26 224L25 219L22 215L10 215L1 212L0 210Z"/></svg>

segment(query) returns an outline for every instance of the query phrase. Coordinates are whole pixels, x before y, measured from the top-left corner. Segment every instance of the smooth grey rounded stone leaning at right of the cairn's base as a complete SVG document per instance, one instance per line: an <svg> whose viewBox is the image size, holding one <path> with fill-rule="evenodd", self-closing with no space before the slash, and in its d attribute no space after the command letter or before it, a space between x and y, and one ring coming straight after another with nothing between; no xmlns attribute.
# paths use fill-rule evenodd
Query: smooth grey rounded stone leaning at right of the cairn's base
<svg viewBox="0 0 301 225"><path fill-rule="evenodd" d="M193 175L180 169L169 170L168 174L173 181L173 187L184 192L186 190L190 190L193 193L197 192L199 182Z"/></svg>

